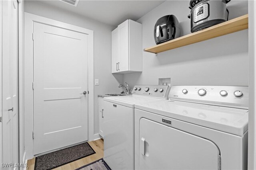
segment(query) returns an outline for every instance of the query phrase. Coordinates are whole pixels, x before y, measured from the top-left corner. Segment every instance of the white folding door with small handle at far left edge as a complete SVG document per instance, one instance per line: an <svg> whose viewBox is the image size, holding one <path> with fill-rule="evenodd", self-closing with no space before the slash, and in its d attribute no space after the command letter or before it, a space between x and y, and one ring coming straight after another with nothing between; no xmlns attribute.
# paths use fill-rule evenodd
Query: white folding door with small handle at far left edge
<svg viewBox="0 0 256 170"><path fill-rule="evenodd" d="M18 3L16 0L2 3L2 163L15 164L18 163Z"/></svg>

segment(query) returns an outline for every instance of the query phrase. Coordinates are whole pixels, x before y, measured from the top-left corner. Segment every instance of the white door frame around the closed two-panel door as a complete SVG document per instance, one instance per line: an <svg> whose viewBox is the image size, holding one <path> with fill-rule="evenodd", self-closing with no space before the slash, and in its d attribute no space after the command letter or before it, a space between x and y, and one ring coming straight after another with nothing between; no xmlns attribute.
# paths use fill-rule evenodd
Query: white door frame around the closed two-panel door
<svg viewBox="0 0 256 170"><path fill-rule="evenodd" d="M26 158L34 156L33 133L33 23L43 23L88 35L88 141L94 135L94 31L25 12L24 107ZM97 134L98 135L98 134Z"/></svg>

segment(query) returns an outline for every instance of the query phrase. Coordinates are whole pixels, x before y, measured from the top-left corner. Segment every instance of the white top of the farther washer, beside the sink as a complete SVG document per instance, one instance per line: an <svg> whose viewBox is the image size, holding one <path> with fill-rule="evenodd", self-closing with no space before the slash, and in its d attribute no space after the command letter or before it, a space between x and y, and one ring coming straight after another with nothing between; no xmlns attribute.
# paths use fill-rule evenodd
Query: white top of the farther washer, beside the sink
<svg viewBox="0 0 256 170"><path fill-rule="evenodd" d="M135 108L135 104L162 101L164 99L144 97L142 95L116 96L104 98L104 101L120 104L126 107ZM168 101L168 100L166 100Z"/></svg>

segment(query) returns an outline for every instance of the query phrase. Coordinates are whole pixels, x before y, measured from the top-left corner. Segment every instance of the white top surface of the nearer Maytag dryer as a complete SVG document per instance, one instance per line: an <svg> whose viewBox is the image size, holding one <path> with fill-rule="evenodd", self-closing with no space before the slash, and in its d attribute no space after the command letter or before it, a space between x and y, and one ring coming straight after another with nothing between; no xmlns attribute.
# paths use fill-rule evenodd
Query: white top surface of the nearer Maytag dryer
<svg viewBox="0 0 256 170"><path fill-rule="evenodd" d="M248 130L248 109L172 100L136 104L135 108L238 136Z"/></svg>

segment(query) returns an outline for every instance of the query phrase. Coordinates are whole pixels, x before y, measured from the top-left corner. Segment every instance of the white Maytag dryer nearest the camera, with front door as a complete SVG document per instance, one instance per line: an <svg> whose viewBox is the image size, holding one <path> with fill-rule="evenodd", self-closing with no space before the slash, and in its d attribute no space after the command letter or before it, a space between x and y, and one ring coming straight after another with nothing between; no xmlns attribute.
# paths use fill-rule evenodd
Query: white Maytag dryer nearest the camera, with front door
<svg viewBox="0 0 256 170"><path fill-rule="evenodd" d="M172 86L169 98L135 106L135 169L247 169L248 87Z"/></svg>

